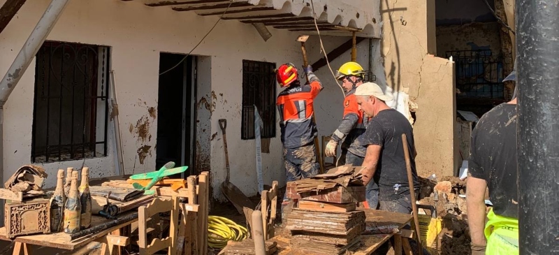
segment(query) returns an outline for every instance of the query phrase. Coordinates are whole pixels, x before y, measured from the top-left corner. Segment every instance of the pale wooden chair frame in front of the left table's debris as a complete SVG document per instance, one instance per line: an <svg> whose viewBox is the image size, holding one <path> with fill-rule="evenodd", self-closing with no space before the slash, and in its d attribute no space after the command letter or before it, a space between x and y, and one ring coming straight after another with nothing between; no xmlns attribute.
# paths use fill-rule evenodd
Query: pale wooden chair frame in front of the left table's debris
<svg viewBox="0 0 559 255"><path fill-rule="evenodd" d="M138 207L138 235L140 237L138 246L140 255L151 255L161 249L167 248L168 255L175 255L177 242L177 226L179 219L179 201L175 196L172 200L155 198L151 203ZM147 221L161 212L170 212L169 235L166 238L153 238L147 240ZM159 218L158 218L159 219Z"/></svg>

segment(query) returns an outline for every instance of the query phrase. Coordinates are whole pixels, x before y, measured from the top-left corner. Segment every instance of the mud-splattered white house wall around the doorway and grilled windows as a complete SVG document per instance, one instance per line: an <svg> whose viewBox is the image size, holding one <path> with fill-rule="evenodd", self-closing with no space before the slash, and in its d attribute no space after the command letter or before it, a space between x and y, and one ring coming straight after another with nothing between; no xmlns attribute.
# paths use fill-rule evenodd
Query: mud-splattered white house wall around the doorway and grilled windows
<svg viewBox="0 0 559 255"><path fill-rule="evenodd" d="M0 0L3 4L5 0ZM41 17L49 0L27 1L20 12L0 34L0 73L3 75L19 52L29 33ZM138 1L71 1L52 33L51 41L66 41L106 45L112 48L112 69L115 70L119 100L119 122L126 173L143 173L154 170L157 119L150 117L150 107L157 108L159 52L187 53L212 27L217 17L201 17L195 13L175 12L170 8L150 8ZM240 139L242 109L242 59L301 63L298 34L270 29L273 37L264 42L250 24L235 20L222 20L203 43L193 52L200 56L198 102L205 97L212 112L198 115L199 147L210 153L212 184L215 198L221 198L219 184L225 177L222 134L217 119L228 119L227 142L231 164L231 182L248 196L256 194L254 140ZM324 38L329 52L348 38ZM317 38L310 38L310 61L319 59ZM358 61L367 66L368 41L358 48ZM349 60L349 52L333 61L336 69ZM376 62L376 61L375 61ZM317 72L326 89L317 99L317 119L320 135L330 135L342 117L342 94L334 85L327 68ZM208 73L211 75L208 77ZM9 177L31 159L31 130L34 102L34 63L29 66L20 83L10 96L4 109L4 176ZM377 76L380 76L377 74ZM384 75L383 75L384 76ZM279 93L280 89L277 89ZM215 94L215 97L212 96ZM223 94L223 96L221 96ZM199 105L198 109L205 109ZM210 117L211 116L211 117ZM210 119L208 119L208 117ZM129 131L139 119L150 122L151 140L138 138L136 131ZM110 130L110 137L112 130ZM212 135L217 134L212 140ZM92 177L114 175L115 156L112 138L109 139L109 156L87 159ZM138 148L151 146L143 164L138 159ZM209 145L209 146L208 146ZM210 150L208 150L208 148ZM279 180L284 184L282 145L279 126L276 138L270 144L270 154L263 154L265 184ZM55 184L57 168L80 167L82 161L47 163L43 167L50 177L47 186ZM136 166L136 169L133 169ZM204 169L206 170L206 169Z"/></svg>

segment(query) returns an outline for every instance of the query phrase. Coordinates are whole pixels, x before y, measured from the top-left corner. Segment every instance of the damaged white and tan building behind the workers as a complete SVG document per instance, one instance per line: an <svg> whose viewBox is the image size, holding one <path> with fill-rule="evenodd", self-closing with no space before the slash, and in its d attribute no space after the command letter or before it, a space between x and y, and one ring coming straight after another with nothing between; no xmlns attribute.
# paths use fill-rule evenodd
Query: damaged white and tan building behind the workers
<svg viewBox="0 0 559 255"><path fill-rule="evenodd" d="M50 4L17 2L24 3L0 26L3 73ZM29 163L49 175L85 164L96 178L145 173L175 161L189 166L191 174L210 171L212 196L223 200L219 119L226 119L231 182L252 196L258 192L256 106L263 121L263 182L284 186L275 106L281 88L274 69L286 62L302 66L296 38L311 35L308 59L324 83L314 103L319 137L330 136L344 99L333 71L351 60L353 32L356 61L372 73L371 80L398 95L393 107L414 124L419 175L456 175L465 158L456 110L481 117L487 105L498 102L495 97L507 99L511 89L499 79L511 70L514 55L504 53L500 24L483 1L467 18L445 17L451 12L444 8L451 10L456 2L70 1L3 105L0 177ZM473 78L471 72L463 75L461 65L470 61L464 56L486 61L479 59L486 50L495 72L487 74L484 67L475 75L490 84L465 84ZM474 102L480 98L484 103ZM45 186L54 181L49 178Z"/></svg>

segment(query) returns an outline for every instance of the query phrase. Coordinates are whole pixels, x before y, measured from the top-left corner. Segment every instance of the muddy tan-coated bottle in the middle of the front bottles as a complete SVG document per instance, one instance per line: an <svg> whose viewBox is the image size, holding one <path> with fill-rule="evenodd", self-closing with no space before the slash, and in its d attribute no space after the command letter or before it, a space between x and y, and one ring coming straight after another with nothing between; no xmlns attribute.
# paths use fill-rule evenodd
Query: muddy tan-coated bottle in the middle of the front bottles
<svg viewBox="0 0 559 255"><path fill-rule="evenodd" d="M73 171L68 198L66 198L66 207L64 207L64 233L73 234L80 231L81 212L82 204L80 203L80 194L78 193L78 171Z"/></svg>

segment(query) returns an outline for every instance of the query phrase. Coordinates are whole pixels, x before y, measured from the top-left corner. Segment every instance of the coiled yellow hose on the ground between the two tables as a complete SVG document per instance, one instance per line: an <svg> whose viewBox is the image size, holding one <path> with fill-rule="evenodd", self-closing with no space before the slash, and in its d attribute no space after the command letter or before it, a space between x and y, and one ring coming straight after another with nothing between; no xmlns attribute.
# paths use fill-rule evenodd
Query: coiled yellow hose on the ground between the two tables
<svg viewBox="0 0 559 255"><path fill-rule="evenodd" d="M229 240L235 242L245 240L247 233L247 228L231 219L208 216L208 245L214 249L223 249Z"/></svg>

